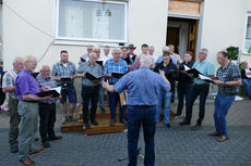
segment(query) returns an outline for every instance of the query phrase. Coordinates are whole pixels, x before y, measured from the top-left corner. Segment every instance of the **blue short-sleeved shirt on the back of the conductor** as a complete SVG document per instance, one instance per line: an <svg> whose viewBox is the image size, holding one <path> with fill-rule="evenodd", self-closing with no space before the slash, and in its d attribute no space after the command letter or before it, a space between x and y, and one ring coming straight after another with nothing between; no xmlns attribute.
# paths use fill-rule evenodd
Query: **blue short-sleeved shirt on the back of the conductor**
<svg viewBox="0 0 251 166"><path fill-rule="evenodd" d="M169 85L148 67L130 72L113 85L117 92L128 89L128 105L156 105L157 94L167 93Z"/></svg>

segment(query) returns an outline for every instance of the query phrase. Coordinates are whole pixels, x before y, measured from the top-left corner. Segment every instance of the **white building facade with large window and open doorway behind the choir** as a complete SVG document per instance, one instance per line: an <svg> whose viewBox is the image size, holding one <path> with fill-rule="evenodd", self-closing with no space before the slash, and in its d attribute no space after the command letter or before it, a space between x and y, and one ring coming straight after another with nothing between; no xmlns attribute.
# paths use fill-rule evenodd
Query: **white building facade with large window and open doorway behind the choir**
<svg viewBox="0 0 251 166"><path fill-rule="evenodd" d="M1 59L4 71L15 56L35 55L52 66L60 51L69 51L77 66L86 46L155 47L172 43L181 58L186 51L216 53L238 47L241 61L251 64L250 0L8 0L0 8Z"/></svg>

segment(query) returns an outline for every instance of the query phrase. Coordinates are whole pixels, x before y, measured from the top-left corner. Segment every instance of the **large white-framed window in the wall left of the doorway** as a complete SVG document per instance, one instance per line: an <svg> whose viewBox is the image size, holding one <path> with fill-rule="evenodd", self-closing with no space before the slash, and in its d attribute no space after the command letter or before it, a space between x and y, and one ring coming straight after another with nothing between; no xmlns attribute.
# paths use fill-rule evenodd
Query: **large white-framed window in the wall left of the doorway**
<svg viewBox="0 0 251 166"><path fill-rule="evenodd" d="M127 3L58 0L58 39L127 42Z"/></svg>

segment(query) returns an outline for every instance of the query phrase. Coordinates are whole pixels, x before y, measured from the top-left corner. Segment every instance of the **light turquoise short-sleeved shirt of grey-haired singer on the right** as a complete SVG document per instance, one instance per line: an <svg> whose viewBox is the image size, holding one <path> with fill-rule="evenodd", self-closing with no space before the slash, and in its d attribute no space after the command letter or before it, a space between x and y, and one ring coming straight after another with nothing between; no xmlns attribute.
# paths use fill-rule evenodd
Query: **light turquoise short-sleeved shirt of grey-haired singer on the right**
<svg viewBox="0 0 251 166"><path fill-rule="evenodd" d="M205 60L203 62L196 61L193 64L192 68L198 69L204 76L213 76L214 72L215 72L214 64L212 62L207 61L207 60ZM198 78L194 78L193 82L198 84L198 85L205 84L204 80L201 80L201 79L198 79Z"/></svg>

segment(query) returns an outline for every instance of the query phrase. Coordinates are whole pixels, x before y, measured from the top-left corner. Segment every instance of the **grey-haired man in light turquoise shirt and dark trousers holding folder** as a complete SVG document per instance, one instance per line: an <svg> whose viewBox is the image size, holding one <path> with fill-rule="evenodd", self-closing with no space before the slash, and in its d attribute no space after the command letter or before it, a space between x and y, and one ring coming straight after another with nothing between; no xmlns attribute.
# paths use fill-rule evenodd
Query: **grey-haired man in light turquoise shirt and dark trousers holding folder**
<svg viewBox="0 0 251 166"><path fill-rule="evenodd" d="M199 61L193 64L192 68L198 69L202 75L213 78L214 76L214 64L206 60L208 54L207 49L201 49L199 51ZM189 74L190 77L193 77L192 74ZM196 120L195 126L192 127L192 130L196 130L201 128L202 120L205 115L205 102L206 98L210 92L210 84L205 82L202 79L194 78L193 79L193 87L191 90L191 95L188 104L188 110L186 112L186 119L180 123L180 125L190 125L192 118L192 107L193 103L195 102L196 98L200 95L200 113L199 118Z"/></svg>

